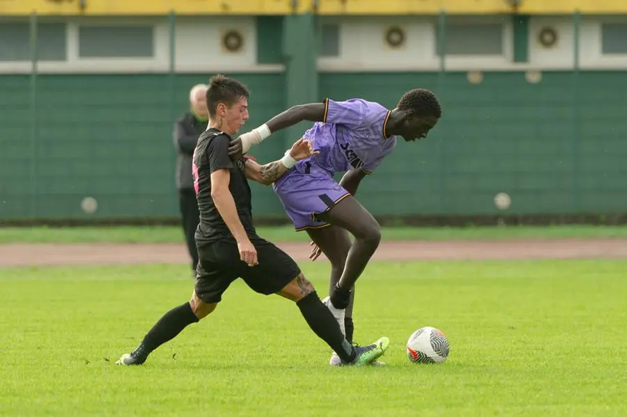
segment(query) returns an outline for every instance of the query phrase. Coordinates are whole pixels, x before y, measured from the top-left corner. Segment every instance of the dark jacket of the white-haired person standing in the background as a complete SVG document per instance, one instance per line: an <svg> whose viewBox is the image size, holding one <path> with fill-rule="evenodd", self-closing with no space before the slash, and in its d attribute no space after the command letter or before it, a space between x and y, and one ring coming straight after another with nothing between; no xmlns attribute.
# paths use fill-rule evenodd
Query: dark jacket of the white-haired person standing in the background
<svg viewBox="0 0 627 417"><path fill-rule="evenodd" d="M178 190L194 189L192 155L194 155L198 137L207 129L207 124L206 121L199 121L189 111L174 123L172 136L176 148L176 189Z"/></svg>

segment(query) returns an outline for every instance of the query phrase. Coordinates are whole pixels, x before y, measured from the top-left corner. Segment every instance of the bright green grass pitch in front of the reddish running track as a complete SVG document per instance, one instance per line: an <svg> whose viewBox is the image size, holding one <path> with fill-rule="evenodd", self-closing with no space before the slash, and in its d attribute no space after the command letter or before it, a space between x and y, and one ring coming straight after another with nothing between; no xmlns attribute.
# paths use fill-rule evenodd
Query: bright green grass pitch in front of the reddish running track
<svg viewBox="0 0 627 417"><path fill-rule="evenodd" d="M303 267L325 292L328 266ZM373 263L355 336L392 340L385 368L331 368L290 301L236 282L144 366L114 365L189 298L186 270L0 268L0 415L627 415L627 261ZM443 365L405 357L426 325Z"/></svg>

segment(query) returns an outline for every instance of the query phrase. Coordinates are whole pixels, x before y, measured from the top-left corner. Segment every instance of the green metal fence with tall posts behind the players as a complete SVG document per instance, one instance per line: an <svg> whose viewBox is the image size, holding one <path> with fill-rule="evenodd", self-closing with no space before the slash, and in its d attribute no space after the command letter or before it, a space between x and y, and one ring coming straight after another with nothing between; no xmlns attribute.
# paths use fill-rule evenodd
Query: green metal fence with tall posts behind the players
<svg viewBox="0 0 627 417"><path fill-rule="evenodd" d="M169 17L171 29L175 17ZM444 48L446 15L438 24ZM430 88L444 118L426 141L399 140L367 178L359 200L376 215L621 213L627 207L627 69L541 73L320 73L319 97L364 97L392 108L410 88ZM37 17L31 17L30 74L0 77L0 220L174 217L173 121L190 86L209 74L39 74ZM174 38L171 31L170 51ZM248 126L286 107L285 75L229 74L252 91ZM254 150L282 155L287 138ZM494 196L512 198L509 210ZM254 186L255 214L282 216L268 187ZM86 214L81 202L98 200Z"/></svg>

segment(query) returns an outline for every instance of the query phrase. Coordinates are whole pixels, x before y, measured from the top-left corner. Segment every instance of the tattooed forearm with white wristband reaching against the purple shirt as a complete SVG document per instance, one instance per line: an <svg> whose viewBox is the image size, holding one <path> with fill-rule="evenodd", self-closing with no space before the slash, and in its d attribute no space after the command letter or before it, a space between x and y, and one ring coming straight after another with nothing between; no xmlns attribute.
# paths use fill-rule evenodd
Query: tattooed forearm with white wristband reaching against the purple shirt
<svg viewBox="0 0 627 417"><path fill-rule="evenodd" d="M244 172L249 180L270 185L285 175L296 162L318 155L318 153L318 151L314 151L310 141L301 138L292 145L290 150L285 152L284 157L269 164L260 165L254 159L246 158Z"/></svg>

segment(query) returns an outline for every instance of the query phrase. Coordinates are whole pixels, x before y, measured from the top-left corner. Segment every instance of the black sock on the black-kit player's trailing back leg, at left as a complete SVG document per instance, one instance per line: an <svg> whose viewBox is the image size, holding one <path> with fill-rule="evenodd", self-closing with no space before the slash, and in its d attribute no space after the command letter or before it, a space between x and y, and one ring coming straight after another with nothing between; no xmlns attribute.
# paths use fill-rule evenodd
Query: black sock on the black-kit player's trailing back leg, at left
<svg viewBox="0 0 627 417"><path fill-rule="evenodd" d="M157 347L175 338L189 324L197 323L198 321L198 317L192 311L192 306L189 303L172 308L146 333L144 340L141 341L141 344L134 352L140 356L148 356Z"/></svg>

